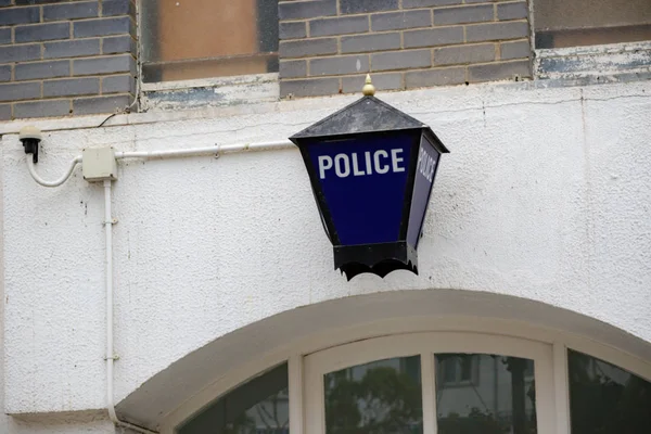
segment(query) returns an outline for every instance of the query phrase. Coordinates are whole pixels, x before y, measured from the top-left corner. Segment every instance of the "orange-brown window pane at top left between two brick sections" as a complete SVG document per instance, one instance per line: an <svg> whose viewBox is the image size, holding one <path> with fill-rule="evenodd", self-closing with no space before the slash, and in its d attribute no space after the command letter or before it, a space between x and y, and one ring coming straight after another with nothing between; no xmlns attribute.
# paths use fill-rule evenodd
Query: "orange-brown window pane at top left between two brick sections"
<svg viewBox="0 0 651 434"><path fill-rule="evenodd" d="M278 71L277 0L142 0L144 81Z"/></svg>

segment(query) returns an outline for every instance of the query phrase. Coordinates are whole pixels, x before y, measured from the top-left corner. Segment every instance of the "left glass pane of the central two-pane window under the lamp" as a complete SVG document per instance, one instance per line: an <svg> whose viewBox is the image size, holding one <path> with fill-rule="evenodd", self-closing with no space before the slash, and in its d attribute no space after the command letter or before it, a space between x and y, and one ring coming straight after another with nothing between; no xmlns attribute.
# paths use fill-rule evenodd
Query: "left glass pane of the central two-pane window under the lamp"
<svg viewBox="0 0 651 434"><path fill-rule="evenodd" d="M420 356L331 372L323 385L328 434L423 432Z"/></svg>

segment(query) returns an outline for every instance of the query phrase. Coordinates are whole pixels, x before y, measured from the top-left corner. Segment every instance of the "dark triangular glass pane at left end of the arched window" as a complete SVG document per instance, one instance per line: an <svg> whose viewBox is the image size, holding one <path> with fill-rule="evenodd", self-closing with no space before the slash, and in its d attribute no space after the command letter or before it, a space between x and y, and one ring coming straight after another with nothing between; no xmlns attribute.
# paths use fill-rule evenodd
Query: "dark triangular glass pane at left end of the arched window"
<svg viewBox="0 0 651 434"><path fill-rule="evenodd" d="M194 414L178 434L286 434L288 366L281 365L229 392Z"/></svg>

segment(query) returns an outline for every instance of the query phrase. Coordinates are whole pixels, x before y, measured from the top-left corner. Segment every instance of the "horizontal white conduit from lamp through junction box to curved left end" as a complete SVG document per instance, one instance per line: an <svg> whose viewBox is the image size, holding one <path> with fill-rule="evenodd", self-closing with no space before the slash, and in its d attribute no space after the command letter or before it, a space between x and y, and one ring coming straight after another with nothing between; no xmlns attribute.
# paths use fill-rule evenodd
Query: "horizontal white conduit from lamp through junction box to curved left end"
<svg viewBox="0 0 651 434"><path fill-rule="evenodd" d="M289 140L277 140L271 142L257 142L257 143L234 143L234 144L216 144L213 146L204 146L204 148L189 148L182 150L164 150L164 151L130 151L130 152L116 152L115 158L178 158L178 157L187 157L187 156L202 156L202 155L219 155L220 153L231 153L231 152L243 152L243 151L261 151L261 150L270 150L270 149L285 149L293 146L293 143ZM63 174L63 176L54 181L46 181L42 179L34 167L34 162L29 156L27 156L27 168L29 169L29 175L31 178L43 187L59 187L73 175L75 167L77 164L81 163L81 155L77 155L71 162L69 167Z"/></svg>

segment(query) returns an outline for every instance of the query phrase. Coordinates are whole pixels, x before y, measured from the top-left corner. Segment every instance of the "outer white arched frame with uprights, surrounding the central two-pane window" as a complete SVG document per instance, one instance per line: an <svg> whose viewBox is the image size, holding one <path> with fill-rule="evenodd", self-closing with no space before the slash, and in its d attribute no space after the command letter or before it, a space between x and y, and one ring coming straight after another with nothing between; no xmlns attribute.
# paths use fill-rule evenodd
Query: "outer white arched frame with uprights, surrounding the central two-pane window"
<svg viewBox="0 0 651 434"><path fill-rule="evenodd" d="M640 359L610 345L604 345L573 333L533 326L522 321L492 318L458 316L447 318L392 318L379 320L373 323L330 330L301 341L288 342L285 346L261 355L247 365L240 366L229 372L220 372L219 376L214 380L206 379L206 385L202 391L162 418L159 432L161 434L175 434L177 426L181 425L209 403L224 396L248 379L258 375L260 372L286 361L289 362L290 432L292 434L312 434L308 430L305 418L307 404L306 387L304 384L307 378L305 360L310 355L318 354L328 348L335 348L342 345L349 345L354 342L373 340L381 336L400 335L403 337L405 334L430 332L469 333L481 335L483 339L514 337L519 341L531 341L533 343L546 344L548 347L550 346L553 370L551 382L553 396L551 397L551 404L556 414L556 429L553 432L557 434L570 434L567 348L599 358L647 381L651 381L651 360ZM486 349L492 354L498 353L498 348L490 347ZM471 350L478 352L478 347L474 347ZM393 355L395 356L395 353ZM431 362L433 366L433 353ZM421 370L423 370L422 367ZM537 373L538 367L535 370ZM432 385L429 387L434 387L433 381L434 379L432 379ZM434 408L433 405L435 404L423 403L423 408ZM433 418L434 414L431 412L430 416L426 413L423 416L425 418ZM433 423L433 421L430 423Z"/></svg>

